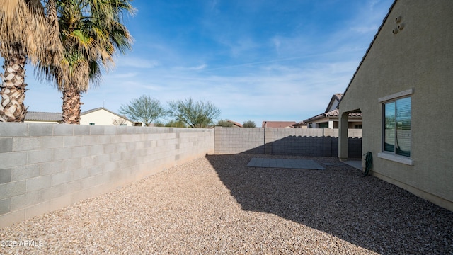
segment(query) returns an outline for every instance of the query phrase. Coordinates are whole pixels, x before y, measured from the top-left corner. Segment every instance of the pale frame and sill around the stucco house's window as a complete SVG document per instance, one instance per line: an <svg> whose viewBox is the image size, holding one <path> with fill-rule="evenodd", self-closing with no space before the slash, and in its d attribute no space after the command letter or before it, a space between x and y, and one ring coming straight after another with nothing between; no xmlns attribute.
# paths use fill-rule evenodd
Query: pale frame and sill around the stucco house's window
<svg viewBox="0 0 453 255"><path fill-rule="evenodd" d="M381 113L382 113L382 126L381 126L381 132L382 132L382 138L381 138L381 152L377 154L379 158L382 159L387 159L393 162L398 162L401 164L408 164L413 166L413 143L412 143L412 135L411 135L411 155L409 157L403 156L396 154L396 152L387 152L384 150L384 144L385 144L385 104L386 103L391 103L398 101L399 99L403 98L411 98L411 123L412 123L412 94L414 93L414 89L408 89L405 91L401 91L395 94L391 94L389 96L384 96L382 98L379 98L379 103L381 103ZM396 127L395 127L396 128ZM396 132L396 129L395 129ZM411 134L412 134L412 125L411 125Z"/></svg>

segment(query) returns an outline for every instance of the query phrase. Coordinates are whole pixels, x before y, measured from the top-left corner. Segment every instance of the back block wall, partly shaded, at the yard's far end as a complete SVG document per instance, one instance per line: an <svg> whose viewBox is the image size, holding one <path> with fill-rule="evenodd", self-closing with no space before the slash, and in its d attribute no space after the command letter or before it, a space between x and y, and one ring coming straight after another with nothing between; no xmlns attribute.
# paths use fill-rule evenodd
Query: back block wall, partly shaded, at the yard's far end
<svg viewBox="0 0 453 255"><path fill-rule="evenodd" d="M348 136L349 157L361 157L362 130L350 129ZM338 129L216 127L214 152L337 157Z"/></svg>

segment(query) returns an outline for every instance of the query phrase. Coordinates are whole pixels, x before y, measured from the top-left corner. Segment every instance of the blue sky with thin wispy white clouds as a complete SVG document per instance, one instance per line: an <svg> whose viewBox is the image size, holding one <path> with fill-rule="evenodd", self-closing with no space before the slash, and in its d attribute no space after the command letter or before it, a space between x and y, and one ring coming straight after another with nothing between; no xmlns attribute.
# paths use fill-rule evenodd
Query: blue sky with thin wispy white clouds
<svg viewBox="0 0 453 255"><path fill-rule="evenodd" d="M393 0L135 0L127 55L82 111L118 112L143 94L211 101L221 119L300 121L343 93ZM3 70L2 70L3 71ZM61 94L28 66L28 111L61 112ZM162 120L166 122L166 120Z"/></svg>

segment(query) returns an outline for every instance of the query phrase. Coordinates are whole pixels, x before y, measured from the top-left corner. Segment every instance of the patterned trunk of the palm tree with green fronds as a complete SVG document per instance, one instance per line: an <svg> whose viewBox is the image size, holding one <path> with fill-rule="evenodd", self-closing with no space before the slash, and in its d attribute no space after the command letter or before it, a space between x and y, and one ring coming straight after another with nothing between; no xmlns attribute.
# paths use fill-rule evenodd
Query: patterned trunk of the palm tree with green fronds
<svg viewBox="0 0 453 255"><path fill-rule="evenodd" d="M80 101L81 92L76 89L76 86L68 86L63 89L63 123L65 124L80 124Z"/></svg>

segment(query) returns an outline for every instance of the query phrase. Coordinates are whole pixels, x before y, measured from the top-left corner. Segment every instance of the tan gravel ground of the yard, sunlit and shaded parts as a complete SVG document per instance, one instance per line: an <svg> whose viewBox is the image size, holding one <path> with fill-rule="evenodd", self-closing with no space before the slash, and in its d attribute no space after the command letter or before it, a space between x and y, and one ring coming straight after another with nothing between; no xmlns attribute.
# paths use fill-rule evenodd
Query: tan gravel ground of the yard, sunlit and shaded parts
<svg viewBox="0 0 453 255"><path fill-rule="evenodd" d="M0 229L0 253L453 254L453 212L336 158L285 157L326 167L303 170L252 157L283 158L196 159Z"/></svg>

